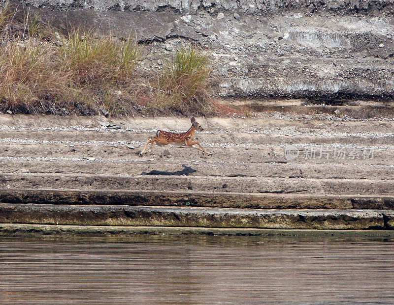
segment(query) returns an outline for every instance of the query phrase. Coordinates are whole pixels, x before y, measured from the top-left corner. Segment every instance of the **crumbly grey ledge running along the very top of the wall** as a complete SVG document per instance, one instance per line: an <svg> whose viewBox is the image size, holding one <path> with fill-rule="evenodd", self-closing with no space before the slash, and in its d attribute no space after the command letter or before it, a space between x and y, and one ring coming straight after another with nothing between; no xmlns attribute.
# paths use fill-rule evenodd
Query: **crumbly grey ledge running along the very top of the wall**
<svg viewBox="0 0 394 305"><path fill-rule="evenodd" d="M1 2L1 1L0 1ZM21 1L22 2L22 1ZM313 12L340 12L340 13L391 13L394 6L390 0L25 0L33 7L50 7L52 9L93 9L112 11L159 11L170 8L176 11L197 13L198 11L217 14L219 11L236 11L247 14L278 14L288 11Z"/></svg>

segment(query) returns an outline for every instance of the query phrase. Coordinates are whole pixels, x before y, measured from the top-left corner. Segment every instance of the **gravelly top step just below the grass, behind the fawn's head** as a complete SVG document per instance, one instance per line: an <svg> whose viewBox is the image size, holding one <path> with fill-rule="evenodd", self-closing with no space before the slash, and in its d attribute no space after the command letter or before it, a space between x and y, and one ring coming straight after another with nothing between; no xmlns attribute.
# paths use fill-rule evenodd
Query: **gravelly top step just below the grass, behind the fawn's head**
<svg viewBox="0 0 394 305"><path fill-rule="evenodd" d="M257 103L256 100L253 102ZM277 101L278 105L282 101ZM227 101L226 101L227 103ZM248 102L247 102L248 103ZM259 103L265 104L265 101ZM242 104L241 104L242 105ZM322 106L327 107L327 106ZM197 121L204 127L204 132L244 132L256 133L258 131L269 134L284 133L287 129L290 131L301 130L321 130L329 132L392 132L394 119L344 119L341 117L321 116L321 115L282 115L281 112L255 113L250 117L197 117ZM64 132L62 137L67 135L78 134L78 132L96 132L103 137L106 135L117 135L125 132L149 133L156 132L157 129L183 131L190 127L190 120L186 117L120 117L105 118L100 116L78 117L78 116L50 116L35 115L31 119L29 115L8 115L0 116L0 132L7 135L7 132L20 132L20 135L29 134L27 131ZM120 129L106 127L113 124ZM56 134L55 134L56 136ZM4 137L6 138L6 137ZM22 138L22 137L21 137ZM22 138L23 139L23 138ZM55 138L54 138L55 139ZM104 138L106 140L106 138ZM122 139L123 140L123 139Z"/></svg>

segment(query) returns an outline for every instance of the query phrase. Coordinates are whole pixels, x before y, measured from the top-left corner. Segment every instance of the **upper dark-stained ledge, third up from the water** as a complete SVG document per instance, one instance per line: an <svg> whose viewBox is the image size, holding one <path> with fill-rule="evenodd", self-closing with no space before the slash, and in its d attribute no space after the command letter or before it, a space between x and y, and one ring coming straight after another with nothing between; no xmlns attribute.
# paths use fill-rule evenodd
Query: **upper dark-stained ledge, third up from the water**
<svg viewBox="0 0 394 305"><path fill-rule="evenodd" d="M390 195L0 189L2 203L196 206L258 209L394 209Z"/></svg>

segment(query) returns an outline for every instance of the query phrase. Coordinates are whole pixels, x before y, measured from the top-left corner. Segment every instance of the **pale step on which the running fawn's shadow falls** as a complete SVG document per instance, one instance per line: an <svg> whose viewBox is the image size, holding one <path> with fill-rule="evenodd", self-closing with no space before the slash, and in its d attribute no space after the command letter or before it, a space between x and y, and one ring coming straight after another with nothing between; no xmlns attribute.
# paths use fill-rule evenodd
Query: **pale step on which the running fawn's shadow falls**
<svg viewBox="0 0 394 305"><path fill-rule="evenodd" d="M162 148L149 159L95 159L82 158L3 158L0 160L0 171L4 174L97 174L136 176L143 173L149 175L203 175L217 177L290 177L290 178L338 178L338 179L394 179L394 165L379 164L334 164L334 163L296 163L282 160L266 160L263 162L232 161L228 166L223 161L210 161L208 158L179 160L178 158L160 158ZM153 159L155 158L155 159ZM149 161L148 161L149 160ZM281 163L277 163L281 162Z"/></svg>

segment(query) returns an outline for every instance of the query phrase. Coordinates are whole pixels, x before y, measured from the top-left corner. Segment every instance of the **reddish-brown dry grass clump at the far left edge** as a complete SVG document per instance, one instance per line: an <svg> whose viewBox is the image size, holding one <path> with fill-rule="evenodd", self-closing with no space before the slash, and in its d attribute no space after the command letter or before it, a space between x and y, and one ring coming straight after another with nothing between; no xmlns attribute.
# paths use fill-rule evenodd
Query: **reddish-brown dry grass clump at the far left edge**
<svg viewBox="0 0 394 305"><path fill-rule="evenodd" d="M67 76L57 70L56 53L49 43L32 39L8 43L0 49L0 100L4 108L17 112L34 112L44 108L42 102L61 97Z"/></svg>

